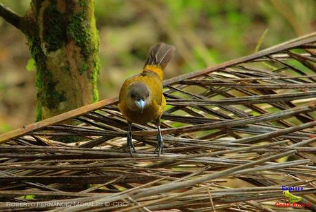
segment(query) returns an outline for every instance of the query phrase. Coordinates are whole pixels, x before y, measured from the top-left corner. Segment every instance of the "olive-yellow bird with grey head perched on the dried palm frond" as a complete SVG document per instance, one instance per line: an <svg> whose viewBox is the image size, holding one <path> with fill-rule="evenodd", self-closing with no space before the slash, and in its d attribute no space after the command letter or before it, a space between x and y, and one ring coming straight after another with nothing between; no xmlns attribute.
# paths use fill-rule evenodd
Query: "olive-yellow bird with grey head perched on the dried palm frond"
<svg viewBox="0 0 316 212"><path fill-rule="evenodd" d="M176 48L165 43L158 43L149 50L143 71L123 82L118 97L118 108L127 120L127 151L131 157L136 153L132 143L132 123L146 124L153 122L158 129L158 145L154 153L158 157L163 153L163 141L160 131L160 117L164 113L166 99L162 93L163 71Z"/></svg>

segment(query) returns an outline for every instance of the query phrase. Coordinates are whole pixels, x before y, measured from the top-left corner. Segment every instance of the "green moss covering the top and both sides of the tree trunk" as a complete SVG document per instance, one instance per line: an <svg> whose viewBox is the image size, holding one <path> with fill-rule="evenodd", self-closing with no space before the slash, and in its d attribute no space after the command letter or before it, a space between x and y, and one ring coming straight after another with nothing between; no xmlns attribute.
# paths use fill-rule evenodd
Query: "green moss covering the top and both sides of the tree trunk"
<svg viewBox="0 0 316 212"><path fill-rule="evenodd" d="M59 81L54 77L53 70L50 70L46 64L47 53L62 49L66 44L66 38L72 39L80 48L81 59L79 59L78 71L81 75L87 73L93 86L93 102L98 101L96 84L99 73L98 32L94 15L90 17L93 1L79 0L77 2L76 7L67 8L67 14L64 14L59 10L56 1L51 1L43 12L38 14L43 15L43 23L39 24L39 26L43 26L43 29L33 23L24 31L28 36L32 58L36 61L37 121L45 118L43 108L45 111L58 110L60 103L67 101L65 93L57 90L56 86ZM41 17L38 18L41 19ZM44 41L45 45L41 41ZM65 64L60 68L63 72L69 72L70 64Z"/></svg>

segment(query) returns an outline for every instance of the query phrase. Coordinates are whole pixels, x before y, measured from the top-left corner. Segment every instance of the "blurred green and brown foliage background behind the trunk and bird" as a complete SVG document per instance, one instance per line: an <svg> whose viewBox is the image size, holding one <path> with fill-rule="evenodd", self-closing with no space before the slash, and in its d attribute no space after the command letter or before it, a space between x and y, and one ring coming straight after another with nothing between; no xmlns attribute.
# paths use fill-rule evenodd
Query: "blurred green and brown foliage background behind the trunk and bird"
<svg viewBox="0 0 316 212"><path fill-rule="evenodd" d="M30 1L0 2L23 15ZM177 48L169 78L249 55L266 30L261 49L316 29L314 0L95 0L95 15L100 99L118 95L159 41ZM26 68L25 43L19 30L0 19L0 133L34 122L34 72Z"/></svg>

